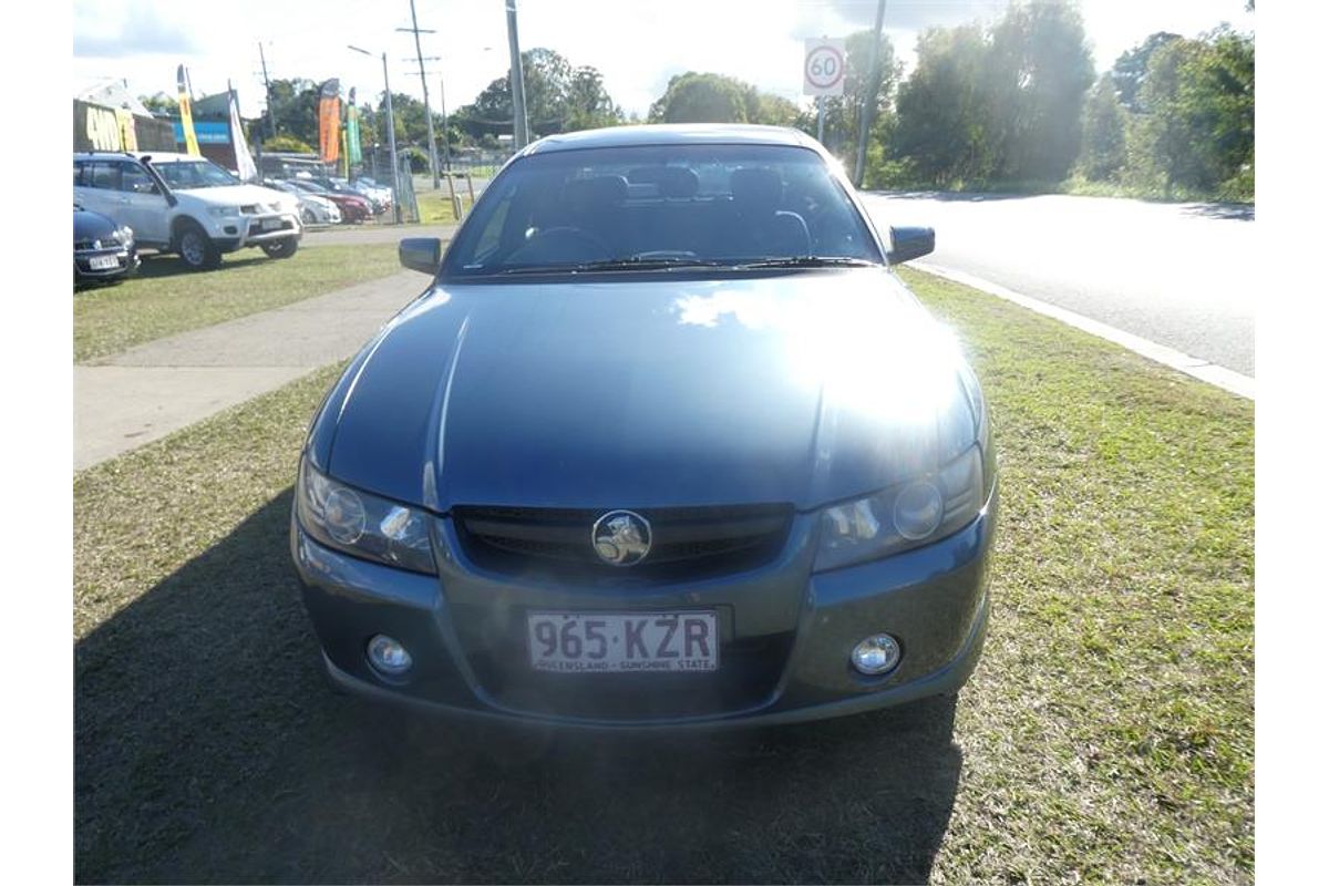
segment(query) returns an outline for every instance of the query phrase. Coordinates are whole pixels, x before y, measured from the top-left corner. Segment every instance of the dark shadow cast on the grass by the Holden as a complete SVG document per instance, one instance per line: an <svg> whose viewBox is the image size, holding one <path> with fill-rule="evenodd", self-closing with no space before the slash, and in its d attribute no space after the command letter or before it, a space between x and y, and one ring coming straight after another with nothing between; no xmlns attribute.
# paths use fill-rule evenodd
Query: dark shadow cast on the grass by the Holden
<svg viewBox="0 0 1329 886"><path fill-rule="evenodd" d="M290 491L74 650L78 882L922 882L954 703L671 737L334 695Z"/></svg>

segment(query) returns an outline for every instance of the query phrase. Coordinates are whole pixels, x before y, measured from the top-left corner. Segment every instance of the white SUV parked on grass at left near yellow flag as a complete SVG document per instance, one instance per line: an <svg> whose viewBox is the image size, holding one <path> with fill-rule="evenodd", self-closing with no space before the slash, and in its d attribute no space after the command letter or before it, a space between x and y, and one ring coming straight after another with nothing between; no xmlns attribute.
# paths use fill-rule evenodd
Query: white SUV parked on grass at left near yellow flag
<svg viewBox="0 0 1329 886"><path fill-rule="evenodd" d="M175 252L194 270L247 246L290 258L302 235L296 198L245 185L189 154L76 153L74 201L132 227L138 246Z"/></svg>

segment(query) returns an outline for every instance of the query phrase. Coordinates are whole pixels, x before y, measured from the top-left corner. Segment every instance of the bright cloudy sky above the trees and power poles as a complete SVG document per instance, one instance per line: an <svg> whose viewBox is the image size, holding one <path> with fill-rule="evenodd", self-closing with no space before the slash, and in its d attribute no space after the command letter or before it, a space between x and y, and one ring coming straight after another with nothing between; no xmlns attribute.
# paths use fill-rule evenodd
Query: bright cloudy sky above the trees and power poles
<svg viewBox="0 0 1329 886"><path fill-rule="evenodd" d="M795 101L801 97L803 40L870 28L876 0L517 0L524 49L546 46L570 64L593 65L626 112L646 116L672 74L712 70ZM912 64L918 32L989 20L1006 0L888 0L885 29ZM1228 21L1255 29L1245 0L1082 0L1095 64L1106 70L1156 31L1195 36ZM469 104L508 72L504 0L416 0L431 106L440 82L448 108ZM72 92L104 77L126 78L136 94L175 92L175 66L194 94L230 80L241 112L263 109L259 44L274 78L339 77L359 96L383 90L388 53L392 90L419 98L409 0L74 0ZM373 58L347 49L354 44ZM409 58L409 61L408 61ZM808 100L809 101L809 100Z"/></svg>

